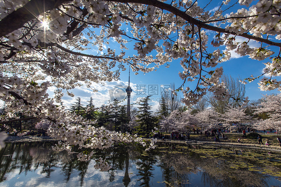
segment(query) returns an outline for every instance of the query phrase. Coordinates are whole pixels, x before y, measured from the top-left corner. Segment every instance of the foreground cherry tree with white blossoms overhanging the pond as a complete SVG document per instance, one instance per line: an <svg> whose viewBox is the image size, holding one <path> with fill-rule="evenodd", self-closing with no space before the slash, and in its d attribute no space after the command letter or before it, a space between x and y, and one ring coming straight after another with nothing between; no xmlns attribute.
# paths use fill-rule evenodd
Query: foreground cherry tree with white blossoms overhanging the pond
<svg viewBox="0 0 281 187"><path fill-rule="evenodd" d="M73 96L70 89L118 79L128 65L135 73L146 73L180 59L183 84L178 90L183 91L185 104L198 101L207 90L223 100L229 93L219 81L223 68L217 65L227 61L233 50L252 59L268 59L263 73L270 77L260 80L260 88L278 88L280 82L272 77L280 74L280 52L273 52L281 47L280 1L239 0L241 9L227 13L236 1L231 3L223 0L216 11L209 11L208 3L192 0L1 0L0 99L10 111L53 121L49 134L65 142L84 147L88 135L104 134L97 140L90 136L91 146L102 148L113 142L104 144L104 139L124 141L127 135L104 133L79 118L73 121L54 104L60 102L62 89ZM130 32L125 31L126 25ZM214 38L211 34L209 39L207 31L215 33ZM120 49L108 46L112 39ZM252 41L259 47L252 47ZM131 52L131 42L132 54L126 52ZM215 48L207 50L209 45ZM99 52L88 52L91 47ZM259 77L248 77L243 83ZM197 86L184 88L188 81L196 81ZM54 99L46 93L49 86L57 88ZM77 135L78 123L83 124L79 133L88 135Z"/></svg>

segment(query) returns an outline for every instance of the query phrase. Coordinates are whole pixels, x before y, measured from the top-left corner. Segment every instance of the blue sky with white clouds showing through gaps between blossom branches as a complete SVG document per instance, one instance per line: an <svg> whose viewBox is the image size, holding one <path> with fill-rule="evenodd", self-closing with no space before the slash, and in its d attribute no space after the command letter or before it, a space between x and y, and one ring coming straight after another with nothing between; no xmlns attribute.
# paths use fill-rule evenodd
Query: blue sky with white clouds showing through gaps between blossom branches
<svg viewBox="0 0 281 187"><path fill-rule="evenodd" d="M198 3L202 3L202 7L205 6L209 1L208 0L202 0L199 1ZM207 6L206 9L209 9L210 12L213 12L218 8L218 6L221 4L222 1L211 1L211 3ZM228 6L232 5L231 2L226 5L225 7L227 8ZM239 6L239 5L234 5L232 8L228 9L225 11L226 13L230 13L234 9L239 8L246 8L245 6ZM225 9L225 8L224 8ZM123 25L121 29L125 30L127 33L129 33L129 28L127 25ZM95 31L96 33L98 30ZM209 42L212 40L214 32L207 31L207 35L209 35ZM236 39L240 39L237 37ZM131 49L133 48L134 42L128 43L128 48L129 51L128 54L131 53ZM113 40L113 38L109 39L109 45L111 48L116 49L116 53L120 51L119 45ZM250 43L251 46L257 46L258 44L255 42ZM108 46L104 45L104 51L106 51L106 48ZM223 50L223 47L220 47L221 50ZM93 46L91 49L86 50L87 53L89 54L97 54L97 52L100 52L97 50L98 47ZM213 49L212 46L209 46L208 51L210 52L211 49ZM152 52L153 54L153 52ZM178 72L182 70L180 64L179 64L180 59L173 60L170 62L170 67L166 68L164 65L160 66L156 71L152 71L146 74L143 74L142 72L139 72L138 74L134 74L131 72L130 76L130 85L133 89L133 92L131 93L131 103L135 103L139 97L146 96L148 95L148 86L154 86L158 87L158 94L154 94L152 96L152 101L150 104L152 105L153 110L155 111L156 108L158 107L158 99L160 97L160 88L161 85L167 86L170 83L175 83L175 87L179 87L182 84L182 80L178 76ZM264 68L264 64L262 62L267 62L269 59L265 59L263 61L257 61L257 60L252 60L248 58L248 56L238 56L234 52L232 52L231 59L229 61L223 62L218 65L223 66L224 69L224 74L232 76L233 78L247 78L251 74L253 76L258 76L262 73L262 69ZM128 67L128 66L127 66ZM249 97L249 100L256 100L259 99L262 94L271 94L271 93L279 93L278 90L273 90L273 91L261 91L258 88L257 84L258 80L255 80L251 83L248 83L245 85L246 88L246 93L245 96ZM104 85L100 84L93 84L93 87L97 88L99 91L98 92L92 92L89 88L82 86L82 87L77 87L73 91L75 94L74 97L70 96L63 96L62 101L63 104L66 105L67 107L75 102L76 97L81 98L82 104L86 105L87 101L89 100L89 97L92 96L94 99L94 104L96 106L100 106L101 104L107 103L108 100L110 99L110 91L112 89L116 89L116 87L126 87L128 84L128 68L125 71L121 72L120 75L120 80L118 81L112 81L112 82L104 82ZM147 87L147 94L139 94L140 90L138 90L140 87L139 86L144 86L146 85ZM190 84L185 84L184 87L190 86ZM192 88L192 84L190 86ZM49 93L51 94L53 91L53 88L50 89ZM125 104L125 102L123 102ZM137 105L135 105L137 106Z"/></svg>

